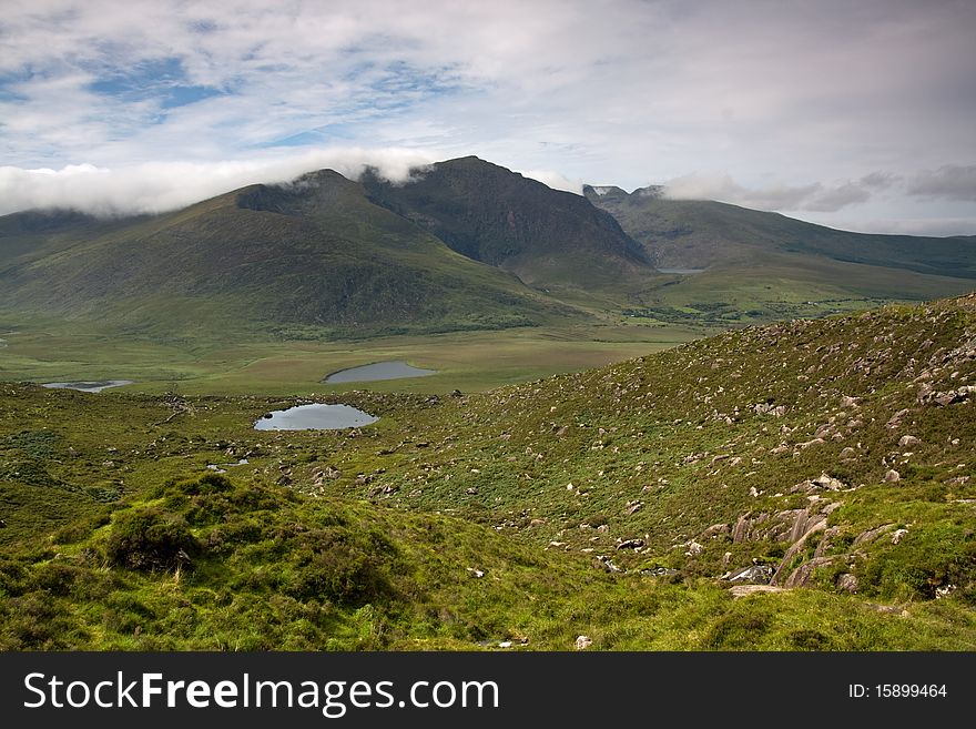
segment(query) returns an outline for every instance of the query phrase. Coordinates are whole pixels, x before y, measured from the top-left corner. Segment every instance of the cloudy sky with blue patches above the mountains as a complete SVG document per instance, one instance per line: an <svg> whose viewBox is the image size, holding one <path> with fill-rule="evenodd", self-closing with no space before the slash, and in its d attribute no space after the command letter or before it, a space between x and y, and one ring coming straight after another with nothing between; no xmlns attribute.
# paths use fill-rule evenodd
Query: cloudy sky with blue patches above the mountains
<svg viewBox="0 0 976 729"><path fill-rule="evenodd" d="M2 0L0 213L477 154L976 234L972 0Z"/></svg>

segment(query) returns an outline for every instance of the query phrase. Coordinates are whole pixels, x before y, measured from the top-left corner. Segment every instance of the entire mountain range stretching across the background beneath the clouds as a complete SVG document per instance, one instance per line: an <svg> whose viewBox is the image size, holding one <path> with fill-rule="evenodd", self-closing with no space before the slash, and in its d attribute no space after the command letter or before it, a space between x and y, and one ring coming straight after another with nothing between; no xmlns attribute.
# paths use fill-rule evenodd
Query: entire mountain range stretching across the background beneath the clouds
<svg viewBox="0 0 976 729"><path fill-rule="evenodd" d="M17 213L0 217L0 311L171 341L726 327L976 282L973 237L845 233L661 192L575 195L468 156L405 183L323 170L162 215Z"/></svg>

